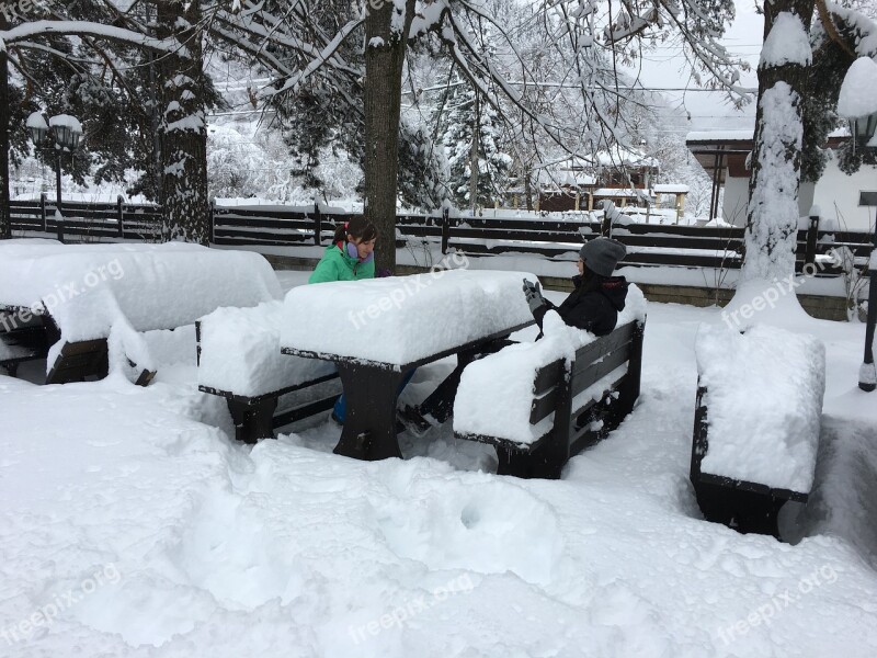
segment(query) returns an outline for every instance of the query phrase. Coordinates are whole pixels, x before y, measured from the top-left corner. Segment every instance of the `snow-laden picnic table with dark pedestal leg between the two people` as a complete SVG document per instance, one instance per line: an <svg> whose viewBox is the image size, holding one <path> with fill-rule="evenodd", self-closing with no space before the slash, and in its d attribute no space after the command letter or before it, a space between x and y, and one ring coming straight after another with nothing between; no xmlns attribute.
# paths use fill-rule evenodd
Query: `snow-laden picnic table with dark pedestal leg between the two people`
<svg viewBox="0 0 877 658"><path fill-rule="evenodd" d="M335 453L364 460L401 456L396 404L406 374L533 324L522 272L434 271L322 283L292 290L281 332L285 354L333 361L348 415Z"/></svg>

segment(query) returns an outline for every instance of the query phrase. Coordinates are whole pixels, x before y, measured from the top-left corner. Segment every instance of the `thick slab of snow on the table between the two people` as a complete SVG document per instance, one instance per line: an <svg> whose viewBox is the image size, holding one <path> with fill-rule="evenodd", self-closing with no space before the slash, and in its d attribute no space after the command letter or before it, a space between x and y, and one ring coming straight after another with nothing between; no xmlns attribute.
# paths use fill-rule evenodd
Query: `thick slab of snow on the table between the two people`
<svg viewBox="0 0 877 658"><path fill-rule="evenodd" d="M401 366L533 321L525 276L535 279L433 270L296 287L284 300L281 347Z"/></svg>

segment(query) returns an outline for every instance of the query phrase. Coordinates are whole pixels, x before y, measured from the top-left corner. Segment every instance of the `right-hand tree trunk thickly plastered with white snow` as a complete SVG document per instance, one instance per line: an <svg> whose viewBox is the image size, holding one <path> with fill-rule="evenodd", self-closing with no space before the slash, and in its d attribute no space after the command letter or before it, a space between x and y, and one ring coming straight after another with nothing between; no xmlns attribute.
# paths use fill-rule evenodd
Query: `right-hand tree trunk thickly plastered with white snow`
<svg viewBox="0 0 877 658"><path fill-rule="evenodd" d="M770 42L771 31L778 20L784 23L782 33L789 34L789 15L801 22L805 36L808 35L812 13L813 0L765 2L765 43ZM795 54L788 42L783 49ZM800 56L794 61L765 61L764 53L768 52L770 48L763 50L759 64L759 104L741 282L782 280L795 272L804 132L801 99L810 61Z"/></svg>

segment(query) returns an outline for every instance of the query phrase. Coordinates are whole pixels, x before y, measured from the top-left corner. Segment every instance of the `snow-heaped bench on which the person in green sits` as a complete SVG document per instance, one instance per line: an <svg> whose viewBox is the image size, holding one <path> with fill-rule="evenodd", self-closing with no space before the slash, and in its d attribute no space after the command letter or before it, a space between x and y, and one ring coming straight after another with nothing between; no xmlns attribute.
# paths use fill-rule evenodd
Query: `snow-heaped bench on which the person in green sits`
<svg viewBox="0 0 877 658"><path fill-rule="evenodd" d="M330 409L340 393L338 386L319 386L338 377L331 362L281 354L282 311L280 300L219 308L195 325L198 389L226 398L236 438L246 443ZM299 390L316 399L275 413L281 396Z"/></svg>

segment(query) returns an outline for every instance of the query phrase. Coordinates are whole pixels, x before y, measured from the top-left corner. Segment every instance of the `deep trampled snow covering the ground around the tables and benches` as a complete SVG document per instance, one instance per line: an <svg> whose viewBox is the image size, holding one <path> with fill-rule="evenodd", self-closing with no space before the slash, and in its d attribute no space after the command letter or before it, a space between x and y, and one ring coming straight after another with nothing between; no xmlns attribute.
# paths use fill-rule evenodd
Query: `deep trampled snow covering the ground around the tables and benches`
<svg viewBox="0 0 877 658"><path fill-rule="evenodd" d="M698 518L694 339L721 321L649 305L637 409L559 481L490 474L492 449L455 443L451 423L402 434L405 461L333 455L324 416L236 444L179 341L148 388L0 377L0 655L870 658L864 328L800 322L825 345L827 389L790 545ZM420 368L403 396L452 366Z"/></svg>

